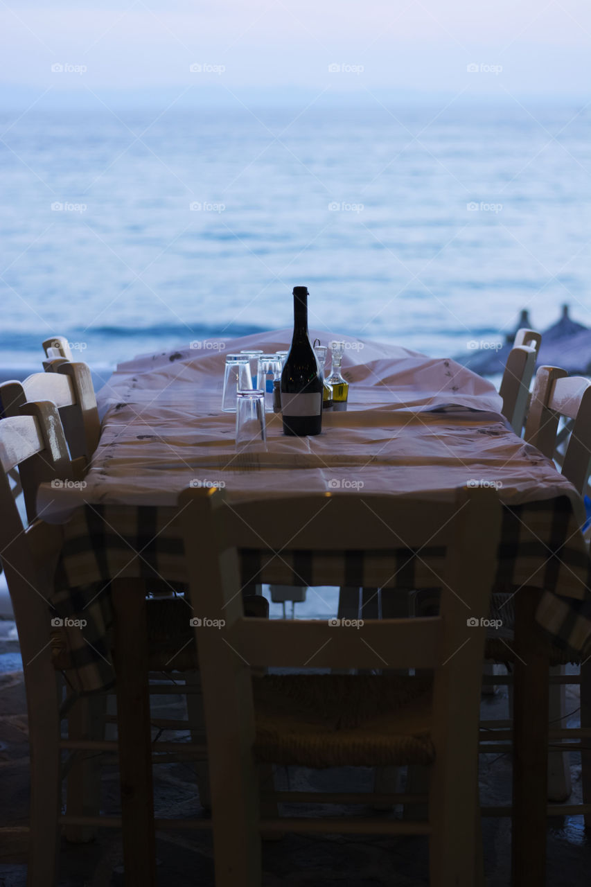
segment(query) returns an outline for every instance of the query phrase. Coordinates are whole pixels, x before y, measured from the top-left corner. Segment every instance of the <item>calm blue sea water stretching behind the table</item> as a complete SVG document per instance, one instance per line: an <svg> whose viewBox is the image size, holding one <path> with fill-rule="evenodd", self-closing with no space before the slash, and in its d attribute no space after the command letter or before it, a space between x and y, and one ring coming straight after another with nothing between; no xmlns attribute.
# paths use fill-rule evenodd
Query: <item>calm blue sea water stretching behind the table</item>
<svg viewBox="0 0 591 887"><path fill-rule="evenodd" d="M525 306L591 326L588 108L300 110L4 114L3 365L56 333L105 366L289 326L302 283L327 335L433 355Z"/></svg>

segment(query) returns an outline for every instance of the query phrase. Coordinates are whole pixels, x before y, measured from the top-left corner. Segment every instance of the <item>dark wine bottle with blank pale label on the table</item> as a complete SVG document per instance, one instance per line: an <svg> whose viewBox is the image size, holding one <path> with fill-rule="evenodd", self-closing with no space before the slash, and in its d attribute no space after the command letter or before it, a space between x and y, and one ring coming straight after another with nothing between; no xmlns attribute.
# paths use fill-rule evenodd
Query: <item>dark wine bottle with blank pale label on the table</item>
<svg viewBox="0 0 591 887"><path fill-rule="evenodd" d="M322 391L318 360L308 336L308 288L294 287L294 336L281 371L284 435L320 434Z"/></svg>

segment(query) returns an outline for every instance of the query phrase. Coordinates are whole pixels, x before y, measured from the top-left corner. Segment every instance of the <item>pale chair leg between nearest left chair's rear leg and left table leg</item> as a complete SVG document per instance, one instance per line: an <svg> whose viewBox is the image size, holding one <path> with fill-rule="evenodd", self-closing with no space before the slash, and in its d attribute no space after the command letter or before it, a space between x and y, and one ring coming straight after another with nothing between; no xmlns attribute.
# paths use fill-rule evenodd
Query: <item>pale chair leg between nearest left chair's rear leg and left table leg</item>
<svg viewBox="0 0 591 887"><path fill-rule="evenodd" d="M67 734L69 739L103 739L105 735L106 695L87 696L79 699L68 713ZM68 814L98 816L101 788L100 757L83 757L73 763L67 773ZM83 844L97 836L94 826L66 826L67 841Z"/></svg>

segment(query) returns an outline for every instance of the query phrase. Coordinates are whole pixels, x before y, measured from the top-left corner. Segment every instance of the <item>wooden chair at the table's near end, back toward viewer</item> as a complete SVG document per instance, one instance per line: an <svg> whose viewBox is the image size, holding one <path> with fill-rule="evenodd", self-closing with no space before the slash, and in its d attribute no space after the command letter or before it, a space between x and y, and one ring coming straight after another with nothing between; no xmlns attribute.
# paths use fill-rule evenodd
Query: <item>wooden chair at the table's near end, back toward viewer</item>
<svg viewBox="0 0 591 887"><path fill-rule="evenodd" d="M476 495L475 495L476 493ZM490 494L492 495L482 495ZM191 594L215 627L198 628L217 887L261 883L259 829L429 836L432 885L484 883L477 801L480 679L485 630L469 616L489 612L500 538L493 491L459 491L449 503L424 498L325 493L241 506L223 491L179 498ZM362 627L316 620L246 620L235 548L370 552L383 558L382 587L395 582L394 549L446 546L441 615L369 620ZM253 528L253 529L250 529ZM286 540L288 540L286 544ZM342 581L335 567L335 585ZM475 582L482 577L482 582ZM467 624L468 615L468 624ZM421 677L279 674L253 679L251 667L433 669ZM303 715L303 718L300 716ZM303 819L259 821L256 762L295 765L429 765L429 821ZM280 793L280 801L366 804L367 794ZM392 796L391 803L405 801ZM414 800L417 800L414 798ZM424 800L424 799L423 799Z"/></svg>

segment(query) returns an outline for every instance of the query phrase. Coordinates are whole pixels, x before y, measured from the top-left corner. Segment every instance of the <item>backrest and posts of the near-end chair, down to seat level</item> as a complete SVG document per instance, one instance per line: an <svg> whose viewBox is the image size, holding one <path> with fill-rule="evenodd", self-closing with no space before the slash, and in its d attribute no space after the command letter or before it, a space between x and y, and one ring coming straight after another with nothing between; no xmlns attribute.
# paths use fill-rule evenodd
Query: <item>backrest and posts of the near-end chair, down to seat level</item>
<svg viewBox="0 0 591 887"><path fill-rule="evenodd" d="M279 519L269 520L270 507ZM237 755L248 753L254 736L253 666L414 667L435 669L436 755L456 740L476 755L482 620L489 614L500 538L495 491L458 491L448 501L429 492L413 498L321 493L240 503L239 511L226 505L224 491L186 490L178 508L193 616L201 619L195 632L210 745L228 742ZM350 570L357 566L363 585L365 557L373 583L382 587L396 585L410 552L423 561L438 553L441 569L429 584L441 586L440 614L361 626L246 619L233 546L264 549L269 560L321 557L324 568L333 565L334 585L343 585L343 563Z"/></svg>

